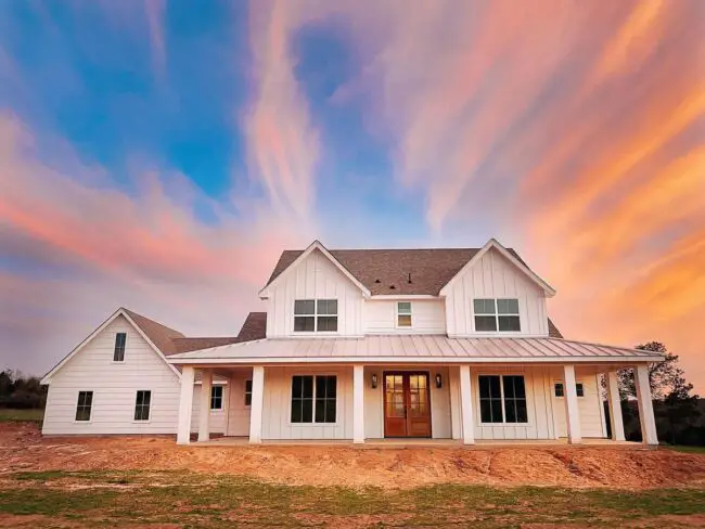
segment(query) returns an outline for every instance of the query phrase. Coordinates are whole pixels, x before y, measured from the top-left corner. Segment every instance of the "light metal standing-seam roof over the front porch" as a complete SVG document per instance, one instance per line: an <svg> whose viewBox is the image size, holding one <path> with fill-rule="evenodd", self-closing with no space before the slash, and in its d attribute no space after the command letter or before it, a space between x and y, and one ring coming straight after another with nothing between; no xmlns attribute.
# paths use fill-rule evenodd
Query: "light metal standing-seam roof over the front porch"
<svg viewBox="0 0 705 529"><path fill-rule="evenodd" d="M363 338L279 338L243 341L169 358L170 363L277 362L651 362L652 351L550 337L449 338L381 335Z"/></svg>

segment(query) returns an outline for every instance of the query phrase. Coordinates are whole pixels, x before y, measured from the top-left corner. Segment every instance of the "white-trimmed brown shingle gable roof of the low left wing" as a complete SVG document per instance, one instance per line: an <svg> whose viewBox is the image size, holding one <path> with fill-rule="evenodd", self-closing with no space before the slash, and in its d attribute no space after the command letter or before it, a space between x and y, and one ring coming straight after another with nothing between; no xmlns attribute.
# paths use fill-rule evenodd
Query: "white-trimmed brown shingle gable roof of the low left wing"
<svg viewBox="0 0 705 529"><path fill-rule="evenodd" d="M169 366L169 369L177 375L181 376L179 371L171 364L169 364L166 361L166 356L164 352L157 347L156 343L161 343L164 347L166 347L169 351L174 347L170 336L176 337L176 335L183 337L181 333L178 331L174 331L172 328L166 327L165 325L162 325L161 323L154 322L150 320L149 318L144 318L136 312L129 311L123 307L117 309L113 314L110 315L107 320L105 320L103 323L99 325L99 327L93 331L84 341L78 344L74 348L73 351L70 351L66 357L64 357L56 365L54 365L49 373L47 373L43 378L41 379L41 384L50 384L51 378L64 366L68 361L74 358L76 354L78 354L86 346L88 346L93 339L95 339L108 325L111 325L115 320L117 320L119 317L125 318L130 325L138 332L138 334L150 345L150 347L154 350L154 352L164 361L166 365ZM139 323L138 323L139 322ZM145 332L146 330L146 332ZM151 335L151 336L150 336ZM174 350L172 352L176 352Z"/></svg>

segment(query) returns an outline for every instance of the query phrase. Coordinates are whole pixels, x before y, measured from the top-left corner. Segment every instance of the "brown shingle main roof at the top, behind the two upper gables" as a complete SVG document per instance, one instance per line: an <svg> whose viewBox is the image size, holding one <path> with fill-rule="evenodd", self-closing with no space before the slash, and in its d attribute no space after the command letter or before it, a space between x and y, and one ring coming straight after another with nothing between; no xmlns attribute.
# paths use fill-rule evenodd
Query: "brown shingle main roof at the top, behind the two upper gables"
<svg viewBox="0 0 705 529"><path fill-rule="evenodd" d="M437 296L482 248L331 249L337 259L373 296ZM512 248L508 250L526 264ZM289 268L304 250L284 250L267 285ZM409 283L411 275L411 283ZM394 285L394 288L392 286Z"/></svg>

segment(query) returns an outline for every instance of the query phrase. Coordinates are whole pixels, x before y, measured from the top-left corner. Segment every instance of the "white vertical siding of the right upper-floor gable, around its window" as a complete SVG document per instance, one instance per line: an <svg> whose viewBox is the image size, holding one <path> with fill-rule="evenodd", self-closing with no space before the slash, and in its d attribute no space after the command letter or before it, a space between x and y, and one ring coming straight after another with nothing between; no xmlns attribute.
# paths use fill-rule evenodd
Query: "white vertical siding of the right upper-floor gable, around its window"
<svg viewBox="0 0 705 529"><path fill-rule="evenodd" d="M474 328L473 299L516 298L521 333L511 335L548 336L546 294L499 251L490 249L474 266L461 272L446 297L448 336L484 336ZM497 333L487 334L496 336Z"/></svg>

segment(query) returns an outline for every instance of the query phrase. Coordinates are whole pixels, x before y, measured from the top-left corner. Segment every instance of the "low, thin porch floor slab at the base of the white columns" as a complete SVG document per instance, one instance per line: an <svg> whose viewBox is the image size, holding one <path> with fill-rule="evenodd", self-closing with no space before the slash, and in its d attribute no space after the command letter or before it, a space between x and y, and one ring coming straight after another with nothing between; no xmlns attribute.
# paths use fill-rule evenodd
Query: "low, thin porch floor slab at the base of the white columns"
<svg viewBox="0 0 705 529"><path fill-rule="evenodd" d="M209 441L191 442L190 446L196 447L243 447L249 446L246 437L217 437ZM401 449L401 448L466 448L470 450L495 450L501 448L556 448L571 447L572 449L580 448L604 448L604 449L643 449L641 442L634 441L613 441L612 439L582 439L580 444L568 444L566 438L561 439L514 439L514 440L495 440L478 439L475 444L463 444L459 439L367 439L364 443L354 443L349 439L281 439L262 440L261 446L267 447L315 447L315 446L338 446L357 449Z"/></svg>

